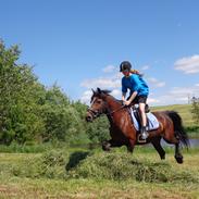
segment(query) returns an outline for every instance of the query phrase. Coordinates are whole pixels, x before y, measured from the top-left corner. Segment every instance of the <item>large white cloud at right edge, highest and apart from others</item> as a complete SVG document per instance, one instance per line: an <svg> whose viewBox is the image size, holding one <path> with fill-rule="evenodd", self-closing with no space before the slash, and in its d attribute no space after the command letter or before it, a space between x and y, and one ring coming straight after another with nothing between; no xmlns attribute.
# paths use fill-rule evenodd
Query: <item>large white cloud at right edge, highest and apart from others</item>
<svg viewBox="0 0 199 199"><path fill-rule="evenodd" d="M183 71L185 74L199 73L199 54L186 57L174 63L175 70Z"/></svg>

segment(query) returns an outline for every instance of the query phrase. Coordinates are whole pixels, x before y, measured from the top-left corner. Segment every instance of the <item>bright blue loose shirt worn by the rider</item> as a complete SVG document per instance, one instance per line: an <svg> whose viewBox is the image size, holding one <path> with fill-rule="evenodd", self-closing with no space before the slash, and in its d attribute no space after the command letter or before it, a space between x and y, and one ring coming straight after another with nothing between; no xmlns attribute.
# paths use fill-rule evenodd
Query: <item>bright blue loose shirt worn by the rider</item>
<svg viewBox="0 0 199 199"><path fill-rule="evenodd" d="M134 91L137 91L138 96L148 96L149 87L147 83L137 74L129 75L128 77L124 76L122 78L122 91L125 94L127 89L130 90L130 95Z"/></svg>

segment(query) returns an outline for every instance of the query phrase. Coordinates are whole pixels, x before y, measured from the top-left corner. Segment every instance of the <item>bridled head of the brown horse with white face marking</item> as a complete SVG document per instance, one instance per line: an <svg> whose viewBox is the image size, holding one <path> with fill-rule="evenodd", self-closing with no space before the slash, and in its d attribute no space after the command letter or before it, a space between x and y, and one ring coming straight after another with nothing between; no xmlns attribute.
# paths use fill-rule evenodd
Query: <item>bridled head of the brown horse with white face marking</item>
<svg viewBox="0 0 199 199"><path fill-rule="evenodd" d="M95 119L97 119L103 113L107 113L108 111L105 97L109 94L109 91L104 91L100 88L97 88L97 90L92 90L92 92L94 94L90 100L90 108L88 109L86 114L87 122L92 122Z"/></svg>

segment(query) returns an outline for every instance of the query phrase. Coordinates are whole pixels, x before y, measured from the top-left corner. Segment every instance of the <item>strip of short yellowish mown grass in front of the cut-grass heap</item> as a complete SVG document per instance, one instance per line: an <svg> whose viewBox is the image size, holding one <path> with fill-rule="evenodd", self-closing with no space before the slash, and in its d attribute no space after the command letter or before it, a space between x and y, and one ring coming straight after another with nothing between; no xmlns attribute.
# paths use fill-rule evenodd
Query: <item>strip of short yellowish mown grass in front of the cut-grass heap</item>
<svg viewBox="0 0 199 199"><path fill-rule="evenodd" d="M133 181L70 179L63 182L57 179L11 178L3 182L4 184L0 186L1 198L197 199L199 194L198 187L195 185L135 183Z"/></svg>

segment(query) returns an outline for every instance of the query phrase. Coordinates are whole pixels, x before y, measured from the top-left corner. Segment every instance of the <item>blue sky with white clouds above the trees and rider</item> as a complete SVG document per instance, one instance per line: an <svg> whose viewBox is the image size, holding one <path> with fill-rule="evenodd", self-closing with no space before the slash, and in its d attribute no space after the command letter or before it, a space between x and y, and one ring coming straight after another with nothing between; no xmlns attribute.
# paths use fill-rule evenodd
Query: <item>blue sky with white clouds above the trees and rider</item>
<svg viewBox="0 0 199 199"><path fill-rule="evenodd" d="M20 63L88 103L91 88L121 99L119 65L144 74L151 105L199 97L198 0L0 0L0 38Z"/></svg>

